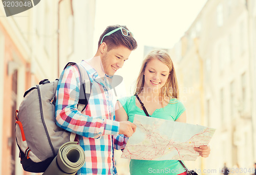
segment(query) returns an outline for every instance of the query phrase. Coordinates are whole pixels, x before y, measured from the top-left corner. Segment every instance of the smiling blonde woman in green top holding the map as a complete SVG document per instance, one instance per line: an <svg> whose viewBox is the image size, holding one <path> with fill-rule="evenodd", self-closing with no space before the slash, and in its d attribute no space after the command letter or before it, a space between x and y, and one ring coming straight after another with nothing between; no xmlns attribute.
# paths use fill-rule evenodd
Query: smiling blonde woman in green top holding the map
<svg viewBox="0 0 256 175"><path fill-rule="evenodd" d="M178 100L179 89L174 65L167 52L156 50L146 56L137 79L135 94L138 97L133 95L118 99L116 104L117 121L133 122L135 114L146 115L139 102L140 99L151 117L186 122L185 108ZM200 146L200 148L195 148L195 151L202 157L208 157L210 154L208 146ZM177 170L173 174L186 174L178 160L132 159L130 162L131 175L152 174L153 169L166 168Z"/></svg>

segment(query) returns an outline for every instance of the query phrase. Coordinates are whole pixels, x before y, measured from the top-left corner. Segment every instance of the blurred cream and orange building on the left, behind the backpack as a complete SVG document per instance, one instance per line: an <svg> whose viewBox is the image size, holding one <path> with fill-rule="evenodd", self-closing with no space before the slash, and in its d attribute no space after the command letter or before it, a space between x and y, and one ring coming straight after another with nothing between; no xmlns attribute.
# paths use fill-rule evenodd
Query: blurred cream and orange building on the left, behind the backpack
<svg viewBox="0 0 256 175"><path fill-rule="evenodd" d="M15 110L24 92L58 78L67 62L92 57L95 1L40 1L6 17L0 8L0 174L23 171L15 141ZM35 173L34 173L35 174Z"/></svg>

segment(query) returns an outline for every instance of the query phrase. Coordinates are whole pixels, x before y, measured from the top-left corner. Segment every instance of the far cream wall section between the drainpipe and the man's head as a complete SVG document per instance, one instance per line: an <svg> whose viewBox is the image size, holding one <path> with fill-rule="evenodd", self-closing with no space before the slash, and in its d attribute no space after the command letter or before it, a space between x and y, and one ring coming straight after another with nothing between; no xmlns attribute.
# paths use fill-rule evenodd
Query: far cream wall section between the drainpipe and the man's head
<svg viewBox="0 0 256 175"><path fill-rule="evenodd" d="M93 33L95 23L95 1L73 1L73 15L65 9L67 3L61 2L60 17L60 65L61 72L67 62L80 62L96 54L93 51Z"/></svg>

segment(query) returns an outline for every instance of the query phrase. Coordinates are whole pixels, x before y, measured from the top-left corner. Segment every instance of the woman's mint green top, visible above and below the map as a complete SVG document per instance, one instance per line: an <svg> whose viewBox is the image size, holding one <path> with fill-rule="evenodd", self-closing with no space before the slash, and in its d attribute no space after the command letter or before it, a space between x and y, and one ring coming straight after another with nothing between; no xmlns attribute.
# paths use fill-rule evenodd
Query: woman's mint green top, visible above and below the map
<svg viewBox="0 0 256 175"><path fill-rule="evenodd" d="M143 110L135 104L136 97L123 97L118 101L123 106L127 113L128 120L133 122L134 115L144 115ZM155 110L151 117L162 118L166 120L175 121L185 111L184 105L176 98L172 98L167 106ZM146 174L180 174L184 172L183 166L178 160L134 160L130 162L130 173L131 175L146 175Z"/></svg>

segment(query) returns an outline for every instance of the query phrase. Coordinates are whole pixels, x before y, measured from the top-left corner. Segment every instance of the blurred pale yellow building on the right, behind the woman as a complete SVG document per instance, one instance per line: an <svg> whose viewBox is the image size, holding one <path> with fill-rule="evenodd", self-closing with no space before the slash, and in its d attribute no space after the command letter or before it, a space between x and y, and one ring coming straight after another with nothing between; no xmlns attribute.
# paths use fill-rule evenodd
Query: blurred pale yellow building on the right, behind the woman
<svg viewBox="0 0 256 175"><path fill-rule="evenodd" d="M224 162L249 168L256 161L255 46L254 0L208 0L172 49L187 122L217 129L209 158L188 167L216 174Z"/></svg>

